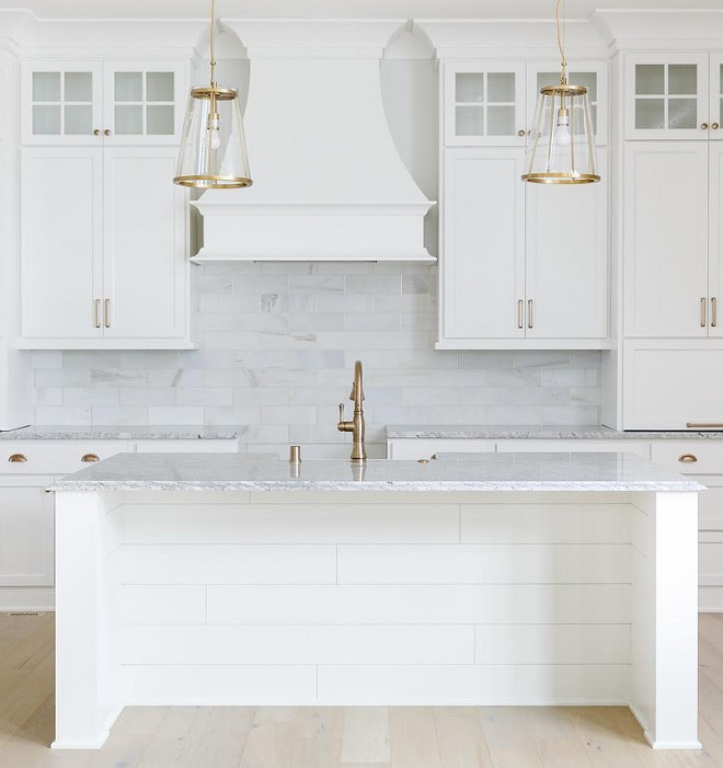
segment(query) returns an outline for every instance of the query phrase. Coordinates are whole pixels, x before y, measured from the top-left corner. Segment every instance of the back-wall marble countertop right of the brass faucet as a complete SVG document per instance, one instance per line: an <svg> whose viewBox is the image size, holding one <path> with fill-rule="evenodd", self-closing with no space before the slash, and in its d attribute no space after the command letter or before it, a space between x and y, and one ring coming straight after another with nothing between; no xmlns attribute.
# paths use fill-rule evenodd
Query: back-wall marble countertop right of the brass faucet
<svg viewBox="0 0 723 768"><path fill-rule="evenodd" d="M424 424L387 426L387 437L447 438L447 439L588 439L588 440L722 440L723 429L679 429L659 432L618 432L599 424L589 426L505 426L503 425L440 425Z"/></svg>

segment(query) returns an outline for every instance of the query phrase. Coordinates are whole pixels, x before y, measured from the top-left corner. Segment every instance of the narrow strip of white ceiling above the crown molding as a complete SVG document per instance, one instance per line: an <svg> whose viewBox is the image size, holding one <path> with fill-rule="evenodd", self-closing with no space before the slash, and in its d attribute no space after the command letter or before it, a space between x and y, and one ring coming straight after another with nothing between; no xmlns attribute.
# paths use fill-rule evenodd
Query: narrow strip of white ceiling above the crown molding
<svg viewBox="0 0 723 768"><path fill-rule="evenodd" d="M567 18L596 8L722 9L722 0L565 0ZM489 19L546 18L553 0L217 0L223 19ZM208 0L0 0L0 9L28 8L41 19L202 19Z"/></svg>

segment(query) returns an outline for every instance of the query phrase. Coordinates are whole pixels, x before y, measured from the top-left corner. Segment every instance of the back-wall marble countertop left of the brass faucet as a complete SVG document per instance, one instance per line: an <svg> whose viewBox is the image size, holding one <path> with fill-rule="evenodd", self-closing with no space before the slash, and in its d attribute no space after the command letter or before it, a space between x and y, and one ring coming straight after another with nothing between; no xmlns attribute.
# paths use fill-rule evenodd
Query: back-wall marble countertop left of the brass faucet
<svg viewBox="0 0 723 768"><path fill-rule="evenodd" d="M0 440L221 440L248 426L26 426L0 431Z"/></svg>

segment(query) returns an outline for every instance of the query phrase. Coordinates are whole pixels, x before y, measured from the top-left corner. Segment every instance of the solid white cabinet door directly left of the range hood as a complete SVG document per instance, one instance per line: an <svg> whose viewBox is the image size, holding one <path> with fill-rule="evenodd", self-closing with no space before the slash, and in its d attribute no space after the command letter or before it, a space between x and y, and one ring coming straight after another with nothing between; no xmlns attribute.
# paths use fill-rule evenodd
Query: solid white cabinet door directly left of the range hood
<svg viewBox="0 0 723 768"><path fill-rule="evenodd" d="M185 194L173 148L104 150L104 335L185 335Z"/></svg>

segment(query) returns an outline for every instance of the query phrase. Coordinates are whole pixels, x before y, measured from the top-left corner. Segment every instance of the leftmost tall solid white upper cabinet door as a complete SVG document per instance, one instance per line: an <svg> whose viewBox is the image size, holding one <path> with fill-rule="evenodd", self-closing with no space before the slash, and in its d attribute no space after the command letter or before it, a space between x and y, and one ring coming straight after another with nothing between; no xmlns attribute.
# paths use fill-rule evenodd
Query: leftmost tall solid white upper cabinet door
<svg viewBox="0 0 723 768"><path fill-rule="evenodd" d="M102 250L102 150L27 148L22 161L23 335L89 339Z"/></svg>

